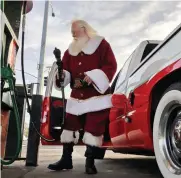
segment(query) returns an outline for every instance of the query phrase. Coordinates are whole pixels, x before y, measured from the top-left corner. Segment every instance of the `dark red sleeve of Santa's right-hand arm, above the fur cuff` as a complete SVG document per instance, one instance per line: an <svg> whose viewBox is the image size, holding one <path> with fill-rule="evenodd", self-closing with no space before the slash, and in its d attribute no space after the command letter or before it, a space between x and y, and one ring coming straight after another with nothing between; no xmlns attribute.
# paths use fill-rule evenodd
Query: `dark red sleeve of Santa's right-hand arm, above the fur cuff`
<svg viewBox="0 0 181 178"><path fill-rule="evenodd" d="M101 70L107 75L109 82L112 81L116 70L117 62L110 44L103 40L101 44Z"/></svg>

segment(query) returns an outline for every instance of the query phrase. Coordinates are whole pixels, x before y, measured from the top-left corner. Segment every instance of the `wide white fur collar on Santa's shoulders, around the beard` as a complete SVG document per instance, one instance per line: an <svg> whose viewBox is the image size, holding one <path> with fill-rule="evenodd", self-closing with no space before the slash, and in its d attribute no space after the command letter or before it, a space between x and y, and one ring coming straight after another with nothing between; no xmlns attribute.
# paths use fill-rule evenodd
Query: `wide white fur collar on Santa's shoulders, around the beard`
<svg viewBox="0 0 181 178"><path fill-rule="evenodd" d="M85 54L91 55L93 54L96 49L99 47L100 43L102 42L102 40L104 39L104 37L102 36L95 36L93 38L91 38L88 43L82 48L82 52L84 52ZM79 54L79 52L73 52L71 45L69 46L69 54L72 56L77 56Z"/></svg>

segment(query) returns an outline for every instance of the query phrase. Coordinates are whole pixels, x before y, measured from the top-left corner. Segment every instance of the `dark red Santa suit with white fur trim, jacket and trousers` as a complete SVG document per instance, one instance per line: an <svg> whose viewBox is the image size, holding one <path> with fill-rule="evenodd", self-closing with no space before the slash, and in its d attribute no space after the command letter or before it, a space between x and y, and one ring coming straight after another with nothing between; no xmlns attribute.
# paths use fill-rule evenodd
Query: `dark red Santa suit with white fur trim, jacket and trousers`
<svg viewBox="0 0 181 178"><path fill-rule="evenodd" d="M101 146L105 123L112 107L110 82L116 73L117 63L110 44L101 36L91 38L80 52L71 48L64 53L64 86L70 83L71 96L66 104L66 119L61 135L62 143L77 143L79 130L84 127L83 142L91 146ZM74 81L93 81L86 88L74 88ZM55 80L55 85L57 80ZM57 86L57 85L56 85ZM80 119L85 117L84 126Z"/></svg>

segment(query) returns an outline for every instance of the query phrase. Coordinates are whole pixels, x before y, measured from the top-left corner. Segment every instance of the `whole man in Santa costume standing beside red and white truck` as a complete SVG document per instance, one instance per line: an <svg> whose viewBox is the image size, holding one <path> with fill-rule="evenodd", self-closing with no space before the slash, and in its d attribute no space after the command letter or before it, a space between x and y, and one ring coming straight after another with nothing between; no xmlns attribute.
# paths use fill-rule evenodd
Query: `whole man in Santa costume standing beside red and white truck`
<svg viewBox="0 0 181 178"><path fill-rule="evenodd" d="M110 44L84 20L71 25L73 41L63 56L64 86L72 92L66 104L66 119L61 134L63 154L60 161L48 166L51 170L72 169L73 146L79 130L84 129L85 172L96 174L96 147L101 147L111 104L110 82L117 63ZM55 85L58 85L56 76ZM85 84L86 82L86 84Z"/></svg>

